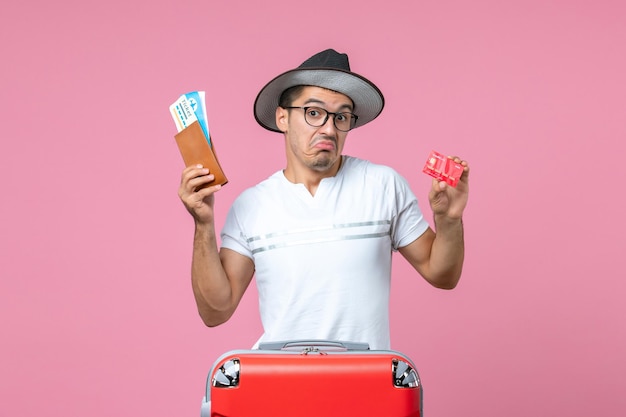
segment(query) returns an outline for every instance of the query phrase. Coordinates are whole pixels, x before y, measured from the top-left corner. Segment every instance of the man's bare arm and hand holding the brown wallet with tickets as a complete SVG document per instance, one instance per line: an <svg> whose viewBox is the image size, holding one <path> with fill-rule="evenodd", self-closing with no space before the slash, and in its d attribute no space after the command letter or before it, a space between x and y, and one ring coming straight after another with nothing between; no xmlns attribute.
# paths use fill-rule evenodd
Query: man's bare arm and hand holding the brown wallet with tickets
<svg viewBox="0 0 626 417"><path fill-rule="evenodd" d="M198 312L207 326L217 326L235 312L252 280L254 263L237 252L218 250L213 206L221 186L195 191L211 180L205 168L185 168L178 194L195 222L191 283Z"/></svg>

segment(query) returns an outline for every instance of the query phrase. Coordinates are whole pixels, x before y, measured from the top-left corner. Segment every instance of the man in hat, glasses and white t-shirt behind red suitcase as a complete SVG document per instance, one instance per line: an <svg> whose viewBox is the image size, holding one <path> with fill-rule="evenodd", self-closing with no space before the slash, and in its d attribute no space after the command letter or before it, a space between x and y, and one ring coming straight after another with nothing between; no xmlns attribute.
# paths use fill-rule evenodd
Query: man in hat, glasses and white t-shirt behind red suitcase
<svg viewBox="0 0 626 417"><path fill-rule="evenodd" d="M261 126L284 136L284 170L233 203L218 249L220 186L187 167L179 196L195 220L192 286L207 326L227 321L256 275L261 341L332 339L389 349L391 256L398 251L431 285L452 289L463 266L469 167L456 188L433 180L436 233L404 178L342 155L348 131L374 120L384 98L350 71L348 57L320 52L257 96Z"/></svg>

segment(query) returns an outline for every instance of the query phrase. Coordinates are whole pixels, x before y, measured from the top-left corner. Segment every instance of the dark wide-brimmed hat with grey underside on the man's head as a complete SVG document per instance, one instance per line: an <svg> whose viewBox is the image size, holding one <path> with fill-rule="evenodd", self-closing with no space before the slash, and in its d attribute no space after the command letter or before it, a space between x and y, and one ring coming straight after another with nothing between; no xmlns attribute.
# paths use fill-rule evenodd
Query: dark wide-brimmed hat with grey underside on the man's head
<svg viewBox="0 0 626 417"><path fill-rule="evenodd" d="M350 71L348 55L327 49L307 59L298 68L284 72L261 89L254 102L254 118L264 128L280 132L276 108L286 89L297 85L322 87L344 94L354 103L358 116L355 127L374 120L385 106L378 87L367 78Z"/></svg>

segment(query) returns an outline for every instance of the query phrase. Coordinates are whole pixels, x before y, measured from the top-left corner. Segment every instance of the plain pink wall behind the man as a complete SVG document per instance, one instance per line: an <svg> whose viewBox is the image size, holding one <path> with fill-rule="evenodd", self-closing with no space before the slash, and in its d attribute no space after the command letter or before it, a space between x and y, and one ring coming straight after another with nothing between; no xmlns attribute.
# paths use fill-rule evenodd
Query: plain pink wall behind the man
<svg viewBox="0 0 626 417"><path fill-rule="evenodd" d="M327 47L387 99L347 153L427 212L427 153L472 164L459 287L395 262L393 347L427 415L626 413L625 3L366 3L2 7L0 416L198 415L213 360L260 327L254 289L220 328L197 316L167 107L207 91L221 224L284 163L256 93Z"/></svg>

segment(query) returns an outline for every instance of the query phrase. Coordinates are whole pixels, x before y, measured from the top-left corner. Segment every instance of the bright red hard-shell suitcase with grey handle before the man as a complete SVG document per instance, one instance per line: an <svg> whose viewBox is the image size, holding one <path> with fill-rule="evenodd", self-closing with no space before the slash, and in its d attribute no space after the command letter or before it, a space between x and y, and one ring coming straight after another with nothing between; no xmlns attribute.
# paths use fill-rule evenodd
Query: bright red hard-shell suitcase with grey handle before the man
<svg viewBox="0 0 626 417"><path fill-rule="evenodd" d="M421 417L413 362L367 344L296 341L222 355L207 378L202 417Z"/></svg>

